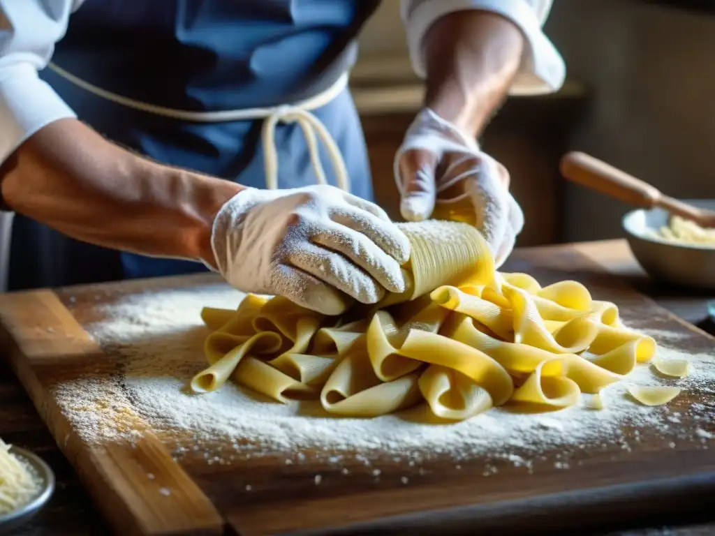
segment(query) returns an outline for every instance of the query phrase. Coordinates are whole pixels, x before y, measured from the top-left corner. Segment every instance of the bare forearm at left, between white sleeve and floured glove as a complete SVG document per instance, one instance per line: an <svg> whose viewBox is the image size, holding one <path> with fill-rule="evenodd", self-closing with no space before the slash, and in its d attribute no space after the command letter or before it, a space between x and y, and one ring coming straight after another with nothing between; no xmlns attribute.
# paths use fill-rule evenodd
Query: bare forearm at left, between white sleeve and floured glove
<svg viewBox="0 0 715 536"><path fill-rule="evenodd" d="M212 264L213 219L242 189L143 159L76 119L34 134L6 160L0 179L11 209L70 237Z"/></svg>

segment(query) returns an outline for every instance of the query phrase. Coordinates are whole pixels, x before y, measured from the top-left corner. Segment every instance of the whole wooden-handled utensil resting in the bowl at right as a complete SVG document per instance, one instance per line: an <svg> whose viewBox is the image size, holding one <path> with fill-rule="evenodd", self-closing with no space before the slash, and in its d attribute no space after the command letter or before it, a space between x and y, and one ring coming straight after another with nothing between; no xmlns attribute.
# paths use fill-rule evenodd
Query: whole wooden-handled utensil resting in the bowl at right
<svg viewBox="0 0 715 536"><path fill-rule="evenodd" d="M571 182L606 194L635 207L661 207L671 214L691 219L700 227L715 227L715 212L698 209L663 194L647 182L636 179L606 162L582 152L570 152L561 158L561 174Z"/></svg>

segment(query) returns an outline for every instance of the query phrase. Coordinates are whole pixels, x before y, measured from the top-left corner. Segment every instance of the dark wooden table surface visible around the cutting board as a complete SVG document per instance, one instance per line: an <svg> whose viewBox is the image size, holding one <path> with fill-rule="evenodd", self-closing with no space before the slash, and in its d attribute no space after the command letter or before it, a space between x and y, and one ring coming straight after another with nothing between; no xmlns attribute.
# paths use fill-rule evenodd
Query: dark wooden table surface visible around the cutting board
<svg viewBox="0 0 715 536"><path fill-rule="evenodd" d="M541 248L544 252L559 246ZM608 271L618 274L633 287L653 297L666 309L679 317L714 332L707 321L706 302L714 296L695 294L684 289L673 289L656 284L646 277L631 256L624 241L604 241L578 244L577 249ZM98 535L107 534L97 510L93 507L74 470L54 444L49 432L37 415L29 397L14 377L9 367L0 359L0 437L21 447L37 452L53 467L57 489L51 503L34 520L12 532L14 536L35 535ZM699 525L696 525L699 523ZM710 520L676 520L673 527L648 527L623 532L613 527L608 535L615 536L700 536L715 534L715 514Z"/></svg>

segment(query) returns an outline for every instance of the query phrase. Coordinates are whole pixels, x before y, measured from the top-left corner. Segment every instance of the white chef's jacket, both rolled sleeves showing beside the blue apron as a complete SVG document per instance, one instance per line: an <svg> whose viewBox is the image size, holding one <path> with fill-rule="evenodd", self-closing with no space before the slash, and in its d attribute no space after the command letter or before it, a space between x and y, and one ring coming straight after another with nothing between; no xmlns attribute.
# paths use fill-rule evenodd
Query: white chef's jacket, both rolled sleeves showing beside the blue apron
<svg viewBox="0 0 715 536"><path fill-rule="evenodd" d="M69 16L84 1L0 0L0 162L43 126L76 116L37 73L49 63ZM430 26L445 14L478 9L505 16L526 37L512 94L548 93L563 84L563 59L542 31L552 0L401 1L410 59L419 76L425 76L422 42Z"/></svg>

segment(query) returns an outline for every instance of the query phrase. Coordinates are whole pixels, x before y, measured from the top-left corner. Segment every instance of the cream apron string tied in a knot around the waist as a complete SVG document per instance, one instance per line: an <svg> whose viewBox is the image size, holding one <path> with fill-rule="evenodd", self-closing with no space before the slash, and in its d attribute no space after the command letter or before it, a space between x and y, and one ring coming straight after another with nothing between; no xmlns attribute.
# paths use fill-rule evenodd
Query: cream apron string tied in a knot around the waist
<svg viewBox="0 0 715 536"><path fill-rule="evenodd" d="M330 132L327 128L325 128L325 125L322 124L322 121L320 121L320 119L318 119L314 114L310 113L311 111L328 104L332 101L332 99L335 99L335 97L337 97L343 89L345 89L348 79L347 72L342 74L340 78L335 81L335 84L332 84L332 86L328 87L325 91L310 97L310 99L305 99L304 101L300 101L295 104L282 104L280 106L273 106L270 108L247 108L226 111L187 111L166 108L164 106L157 106L147 102L129 99L126 96L112 93L112 91L107 91L106 89L102 89L94 84L90 84L74 74L65 71L54 63L50 63L48 67L72 84L79 86L85 91L89 91L102 99L106 99L116 104L121 104L122 106L127 106L139 111L144 111L148 114L169 117L180 121L199 123L253 121L263 119L262 142L267 189L278 188L278 153L275 147L275 127L280 122L286 124L297 123L302 129L303 136L305 137L305 143L307 144L308 151L310 152L310 161L312 162L313 169L315 169L315 177L317 178L318 184L327 184L327 179L325 177L325 170L322 168L322 163L320 162L320 154L318 153L316 137L320 138L320 141L327 149L328 157L330 158L333 171L335 172L337 187L345 192L350 190L350 179L347 175L347 167L345 166L345 161L342 159L340 148L337 147L335 139L332 138Z"/></svg>

